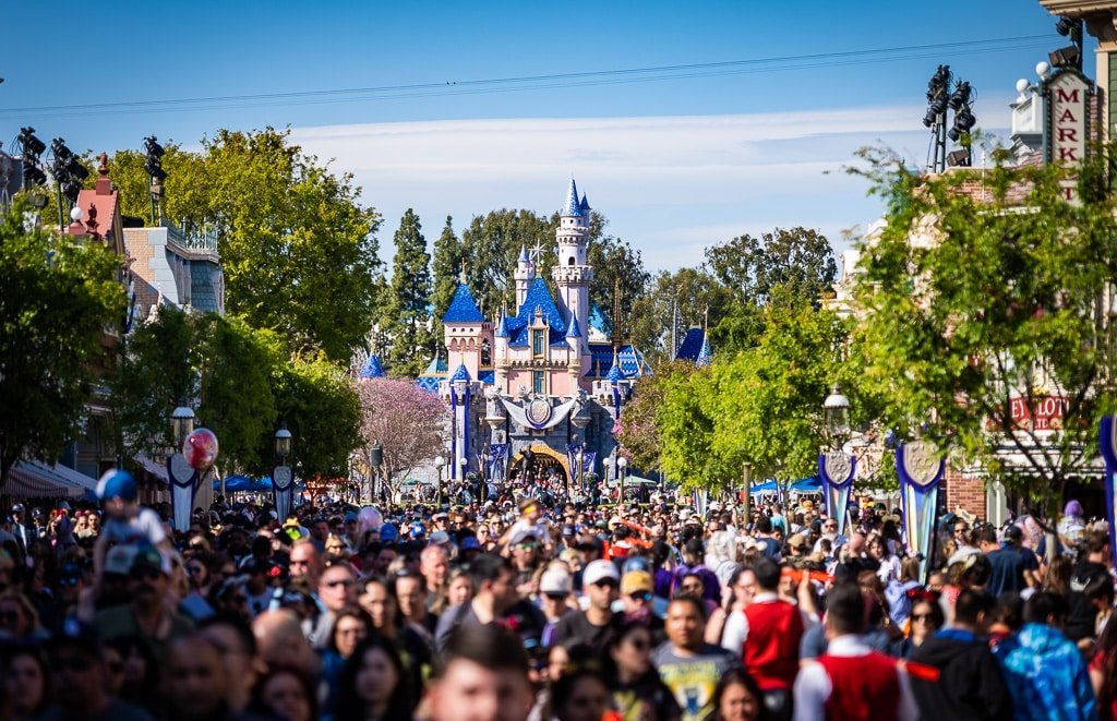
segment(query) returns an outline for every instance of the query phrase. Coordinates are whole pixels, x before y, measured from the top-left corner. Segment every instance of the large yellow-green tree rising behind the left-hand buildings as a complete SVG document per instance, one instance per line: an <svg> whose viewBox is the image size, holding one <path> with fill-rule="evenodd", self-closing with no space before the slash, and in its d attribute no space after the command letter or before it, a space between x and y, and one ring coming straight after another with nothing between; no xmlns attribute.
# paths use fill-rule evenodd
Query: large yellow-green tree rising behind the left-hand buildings
<svg viewBox="0 0 1117 721"><path fill-rule="evenodd" d="M166 145L164 215L185 230L213 229L229 313L277 331L294 350L349 362L378 310L380 217L357 203L349 174L335 175L289 142L289 131L221 129L200 153ZM125 212L147 217L147 176L136 151L111 174Z"/></svg>

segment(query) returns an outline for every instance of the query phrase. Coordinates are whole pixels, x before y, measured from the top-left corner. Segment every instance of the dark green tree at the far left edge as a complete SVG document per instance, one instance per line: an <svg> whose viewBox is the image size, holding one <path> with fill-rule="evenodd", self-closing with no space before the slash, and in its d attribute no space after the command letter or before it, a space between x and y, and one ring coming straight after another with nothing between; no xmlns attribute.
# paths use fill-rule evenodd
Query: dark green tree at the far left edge
<svg viewBox="0 0 1117 721"><path fill-rule="evenodd" d="M25 213L28 213L25 215ZM0 481L19 459L54 462L80 435L124 317L121 259L32 222L22 198L0 220Z"/></svg>

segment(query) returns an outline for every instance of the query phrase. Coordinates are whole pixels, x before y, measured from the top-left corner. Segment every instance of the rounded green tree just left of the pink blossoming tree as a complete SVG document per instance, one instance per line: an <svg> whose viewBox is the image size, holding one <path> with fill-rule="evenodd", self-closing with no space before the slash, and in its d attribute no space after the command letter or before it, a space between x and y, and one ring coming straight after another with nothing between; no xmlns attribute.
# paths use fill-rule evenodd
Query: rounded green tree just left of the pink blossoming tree
<svg viewBox="0 0 1117 721"><path fill-rule="evenodd" d="M273 379L279 421L292 432L292 456L302 478L349 473L349 456L361 444L361 405L341 369L323 355L296 356ZM271 458L274 427L260 440Z"/></svg>

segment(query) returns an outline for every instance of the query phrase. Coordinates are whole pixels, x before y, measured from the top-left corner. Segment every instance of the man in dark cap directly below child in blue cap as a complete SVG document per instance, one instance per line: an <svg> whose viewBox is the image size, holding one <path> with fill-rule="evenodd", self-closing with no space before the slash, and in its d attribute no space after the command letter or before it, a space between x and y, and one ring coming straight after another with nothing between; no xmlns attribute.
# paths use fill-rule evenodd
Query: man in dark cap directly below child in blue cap
<svg viewBox="0 0 1117 721"><path fill-rule="evenodd" d="M166 663L171 642L193 631L193 623L168 609L165 599L171 564L155 548L136 551L128 569L131 603L97 614L96 627L106 641L137 636L152 651L161 667Z"/></svg>

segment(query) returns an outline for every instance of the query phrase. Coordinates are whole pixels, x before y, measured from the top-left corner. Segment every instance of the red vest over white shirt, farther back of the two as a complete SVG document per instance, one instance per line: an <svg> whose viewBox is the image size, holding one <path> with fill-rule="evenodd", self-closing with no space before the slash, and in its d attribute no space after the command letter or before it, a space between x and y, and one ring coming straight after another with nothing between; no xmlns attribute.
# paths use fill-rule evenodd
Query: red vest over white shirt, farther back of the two
<svg viewBox="0 0 1117 721"><path fill-rule="evenodd" d="M761 691L791 690L799 672L799 641L803 616L786 600L750 604L745 607L748 636L741 658Z"/></svg>

